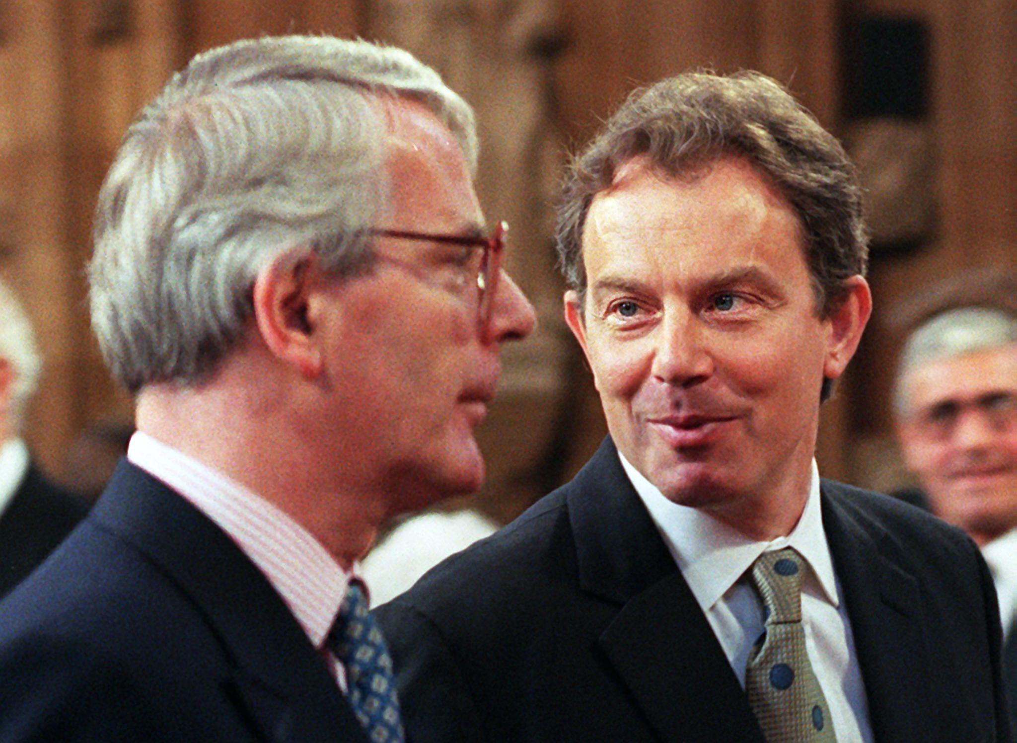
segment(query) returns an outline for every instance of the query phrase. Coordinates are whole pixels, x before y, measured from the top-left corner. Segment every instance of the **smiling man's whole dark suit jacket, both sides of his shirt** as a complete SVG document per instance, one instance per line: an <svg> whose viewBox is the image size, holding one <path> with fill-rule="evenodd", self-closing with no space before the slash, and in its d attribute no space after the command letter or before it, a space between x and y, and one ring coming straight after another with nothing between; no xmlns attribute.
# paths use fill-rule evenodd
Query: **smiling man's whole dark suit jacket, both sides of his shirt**
<svg viewBox="0 0 1017 743"><path fill-rule="evenodd" d="M1007 740L1001 629L959 530L824 481L876 740ZM762 741L608 440L577 477L376 612L430 741Z"/></svg>

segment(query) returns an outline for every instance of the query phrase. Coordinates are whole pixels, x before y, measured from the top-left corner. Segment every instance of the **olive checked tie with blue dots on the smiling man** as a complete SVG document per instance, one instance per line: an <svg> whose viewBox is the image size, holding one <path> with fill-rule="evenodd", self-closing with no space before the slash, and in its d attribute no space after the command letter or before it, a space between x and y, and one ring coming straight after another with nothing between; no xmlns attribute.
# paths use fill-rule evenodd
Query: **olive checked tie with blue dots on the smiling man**
<svg viewBox="0 0 1017 743"><path fill-rule="evenodd" d="M802 572L801 557L791 548L765 552L753 565L753 583L767 619L749 654L745 693L769 743L837 739L830 707L805 652Z"/></svg>

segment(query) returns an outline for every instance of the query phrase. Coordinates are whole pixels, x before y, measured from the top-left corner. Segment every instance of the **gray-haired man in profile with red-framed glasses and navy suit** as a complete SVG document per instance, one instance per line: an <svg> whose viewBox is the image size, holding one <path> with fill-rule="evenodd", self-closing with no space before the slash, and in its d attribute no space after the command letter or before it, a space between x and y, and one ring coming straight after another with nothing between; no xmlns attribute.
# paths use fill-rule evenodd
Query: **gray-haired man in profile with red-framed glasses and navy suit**
<svg viewBox="0 0 1017 743"><path fill-rule="evenodd" d="M0 739L404 740L357 563L480 484L535 322L476 160L469 106L365 42L238 42L141 112L89 268L137 434L0 605Z"/></svg>

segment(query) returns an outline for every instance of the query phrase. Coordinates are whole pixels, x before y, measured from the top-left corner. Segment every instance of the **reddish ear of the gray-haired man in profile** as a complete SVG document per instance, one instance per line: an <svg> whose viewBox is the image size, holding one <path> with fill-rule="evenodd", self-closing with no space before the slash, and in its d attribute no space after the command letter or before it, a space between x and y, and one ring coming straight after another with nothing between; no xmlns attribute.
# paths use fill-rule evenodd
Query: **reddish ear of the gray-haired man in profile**
<svg viewBox="0 0 1017 743"><path fill-rule="evenodd" d="M271 353L307 379L316 378L322 368L310 311L311 294L320 274L314 253L300 258L284 253L254 279L254 320L261 340Z"/></svg>

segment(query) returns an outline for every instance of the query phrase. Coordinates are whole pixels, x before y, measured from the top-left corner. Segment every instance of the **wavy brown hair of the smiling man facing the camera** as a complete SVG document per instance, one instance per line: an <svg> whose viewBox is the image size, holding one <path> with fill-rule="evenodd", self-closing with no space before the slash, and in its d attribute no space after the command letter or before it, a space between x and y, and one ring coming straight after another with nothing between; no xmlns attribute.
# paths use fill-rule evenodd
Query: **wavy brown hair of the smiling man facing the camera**
<svg viewBox="0 0 1017 743"><path fill-rule="evenodd" d="M843 298L845 279L865 273L861 190L836 137L766 75L690 72L632 94L570 167L556 244L565 280L581 293L590 205L611 187L621 166L640 156L670 176L696 175L720 158L742 157L772 179L801 219L823 317Z"/></svg>

